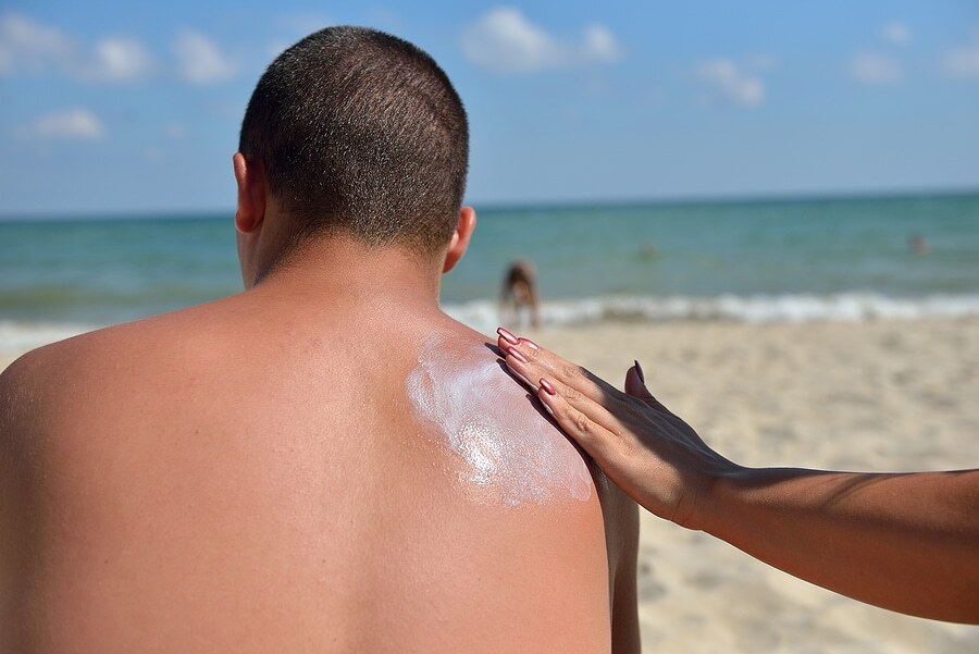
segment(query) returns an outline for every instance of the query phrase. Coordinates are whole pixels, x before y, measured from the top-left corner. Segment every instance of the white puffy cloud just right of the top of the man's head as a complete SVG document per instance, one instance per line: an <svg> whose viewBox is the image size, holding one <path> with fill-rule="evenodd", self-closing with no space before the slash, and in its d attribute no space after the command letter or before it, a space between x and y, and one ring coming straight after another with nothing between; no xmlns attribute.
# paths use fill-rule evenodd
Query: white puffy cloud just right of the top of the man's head
<svg viewBox="0 0 979 654"><path fill-rule="evenodd" d="M590 25L581 42L557 39L511 8L491 10L462 35L462 52L495 73L534 73L594 63L611 63L622 49L608 28Z"/></svg>

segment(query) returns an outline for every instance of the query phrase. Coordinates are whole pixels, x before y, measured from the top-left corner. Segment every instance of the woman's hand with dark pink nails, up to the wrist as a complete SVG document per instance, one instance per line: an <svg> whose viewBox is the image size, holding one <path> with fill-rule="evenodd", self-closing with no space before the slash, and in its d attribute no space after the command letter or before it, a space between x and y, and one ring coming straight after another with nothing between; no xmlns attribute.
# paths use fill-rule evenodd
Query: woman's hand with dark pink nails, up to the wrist
<svg viewBox="0 0 979 654"><path fill-rule="evenodd" d="M622 393L532 341L501 328L497 333L510 370L616 485L660 518L701 528L715 481L741 468L649 394L639 362L625 373Z"/></svg>

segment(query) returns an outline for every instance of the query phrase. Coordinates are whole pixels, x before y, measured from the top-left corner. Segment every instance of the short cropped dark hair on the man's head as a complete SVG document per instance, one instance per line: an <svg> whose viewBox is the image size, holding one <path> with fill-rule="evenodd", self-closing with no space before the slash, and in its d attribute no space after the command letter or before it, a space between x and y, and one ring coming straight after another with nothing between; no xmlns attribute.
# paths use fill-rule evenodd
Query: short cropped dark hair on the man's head
<svg viewBox="0 0 979 654"><path fill-rule="evenodd" d="M259 79L238 150L261 162L297 240L343 233L434 255L459 218L469 126L429 54L373 29L329 27Z"/></svg>

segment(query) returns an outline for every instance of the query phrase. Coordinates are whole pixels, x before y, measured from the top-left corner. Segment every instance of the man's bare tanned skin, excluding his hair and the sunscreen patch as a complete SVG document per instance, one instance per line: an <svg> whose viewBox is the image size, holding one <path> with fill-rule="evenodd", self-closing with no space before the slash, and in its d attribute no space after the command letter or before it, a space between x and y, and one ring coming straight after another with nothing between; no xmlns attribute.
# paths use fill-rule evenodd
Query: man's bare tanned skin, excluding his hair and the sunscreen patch
<svg viewBox="0 0 979 654"><path fill-rule="evenodd" d="M0 377L0 651L637 651L634 505L480 502L412 417L421 343L486 343L437 306L471 210L438 260L333 236L280 264L235 163L246 293Z"/></svg>

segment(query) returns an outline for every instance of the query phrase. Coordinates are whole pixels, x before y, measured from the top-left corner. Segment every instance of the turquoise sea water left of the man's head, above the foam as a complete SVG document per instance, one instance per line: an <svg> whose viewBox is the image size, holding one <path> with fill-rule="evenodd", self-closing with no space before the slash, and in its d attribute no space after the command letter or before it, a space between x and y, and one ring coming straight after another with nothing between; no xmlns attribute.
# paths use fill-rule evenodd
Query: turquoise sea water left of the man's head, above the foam
<svg viewBox="0 0 979 654"><path fill-rule="evenodd" d="M230 217L0 223L0 320L109 324L241 289Z"/></svg>

